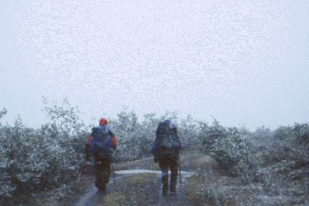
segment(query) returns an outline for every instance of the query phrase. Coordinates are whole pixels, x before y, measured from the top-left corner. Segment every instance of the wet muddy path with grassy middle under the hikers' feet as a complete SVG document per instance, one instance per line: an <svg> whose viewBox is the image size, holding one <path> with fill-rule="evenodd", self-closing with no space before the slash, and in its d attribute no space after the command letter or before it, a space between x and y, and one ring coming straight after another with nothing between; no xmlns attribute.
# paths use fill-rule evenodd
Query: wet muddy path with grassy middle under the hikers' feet
<svg viewBox="0 0 309 206"><path fill-rule="evenodd" d="M177 182L177 193L163 196L159 170L118 170L116 183L111 178L106 192L98 192L93 184L74 205L193 205L183 194L186 178L191 175L182 171L182 184Z"/></svg>

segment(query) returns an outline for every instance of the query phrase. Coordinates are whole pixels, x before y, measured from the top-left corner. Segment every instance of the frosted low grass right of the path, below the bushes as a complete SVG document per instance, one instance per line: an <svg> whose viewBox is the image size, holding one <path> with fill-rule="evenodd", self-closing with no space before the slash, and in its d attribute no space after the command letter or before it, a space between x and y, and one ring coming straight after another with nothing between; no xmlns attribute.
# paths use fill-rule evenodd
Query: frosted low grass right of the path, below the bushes
<svg viewBox="0 0 309 206"><path fill-rule="evenodd" d="M278 174L271 172L273 176L270 179L264 178L264 182L244 184L240 177L227 176L218 170L216 162L207 155L186 156L183 155L183 161L196 174L187 178L184 193L196 205L306 205L304 199L301 199L302 192L297 193L295 189L304 187L296 182L297 186L290 184L286 187L283 177ZM294 196L288 190L293 191Z"/></svg>

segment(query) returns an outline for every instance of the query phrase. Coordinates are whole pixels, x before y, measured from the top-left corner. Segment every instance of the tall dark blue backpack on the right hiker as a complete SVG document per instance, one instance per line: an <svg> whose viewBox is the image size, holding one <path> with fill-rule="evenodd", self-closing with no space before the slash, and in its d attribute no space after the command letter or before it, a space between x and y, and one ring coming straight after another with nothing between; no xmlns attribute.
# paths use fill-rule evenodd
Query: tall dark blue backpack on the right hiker
<svg viewBox="0 0 309 206"><path fill-rule="evenodd" d="M152 146L152 153L172 154L180 150L181 141L172 128L170 120L165 120L159 124L155 143Z"/></svg>

